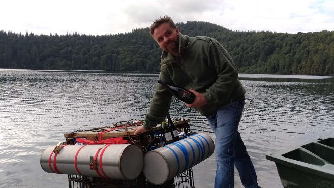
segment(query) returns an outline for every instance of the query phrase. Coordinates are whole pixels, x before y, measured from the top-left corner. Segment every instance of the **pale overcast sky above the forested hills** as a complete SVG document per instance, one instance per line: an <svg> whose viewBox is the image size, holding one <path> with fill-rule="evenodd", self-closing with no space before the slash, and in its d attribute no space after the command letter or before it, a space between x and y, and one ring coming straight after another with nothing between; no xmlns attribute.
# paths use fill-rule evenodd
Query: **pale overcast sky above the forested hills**
<svg viewBox="0 0 334 188"><path fill-rule="evenodd" d="M333 0L0 0L0 30L104 35L149 27L166 14L230 30L334 30Z"/></svg>

